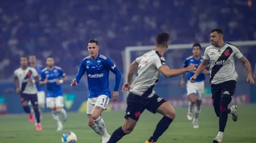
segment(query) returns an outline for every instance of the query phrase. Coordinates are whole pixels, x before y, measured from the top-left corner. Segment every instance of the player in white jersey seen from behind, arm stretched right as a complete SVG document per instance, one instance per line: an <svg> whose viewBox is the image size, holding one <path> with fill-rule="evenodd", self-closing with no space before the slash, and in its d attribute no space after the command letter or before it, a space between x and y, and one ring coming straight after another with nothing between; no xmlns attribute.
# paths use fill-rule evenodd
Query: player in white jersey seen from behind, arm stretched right
<svg viewBox="0 0 256 143"><path fill-rule="evenodd" d="M168 50L168 45L169 34L166 32L160 33L156 36L155 50L148 51L131 63L127 83L122 88L122 92L129 90L125 120L122 127L113 132L108 143L117 142L123 136L131 133L138 122L139 116L145 109L154 114L158 112L163 115L154 133L146 142L156 142L174 120L174 108L163 98L156 95L153 90L158 82L159 73L161 72L165 77L174 77L188 71L195 71L196 67L190 65L187 68L170 69L163 58ZM137 68L137 77L133 81Z"/></svg>

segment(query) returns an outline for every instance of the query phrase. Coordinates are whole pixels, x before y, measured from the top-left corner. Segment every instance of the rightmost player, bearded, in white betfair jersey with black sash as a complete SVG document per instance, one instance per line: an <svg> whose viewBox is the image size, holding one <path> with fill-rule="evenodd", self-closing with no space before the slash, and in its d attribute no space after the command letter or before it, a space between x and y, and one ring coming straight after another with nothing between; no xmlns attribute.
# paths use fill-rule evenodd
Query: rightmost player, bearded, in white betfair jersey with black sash
<svg viewBox="0 0 256 143"><path fill-rule="evenodd" d="M245 58L241 51L228 42L223 41L223 31L221 29L213 29L210 32L210 40L212 45L208 46L204 52L204 59L197 68L195 75L190 79L192 83L199 73L201 73L208 62L210 62L210 84L212 88L212 103L216 115L219 117L219 132L214 143L222 142L224 129L228 120L228 114L232 114L234 122L237 121L237 106L233 105L228 108L236 89L237 72L234 66L234 58L240 59L247 71L247 82L249 85L254 85L253 77L251 76L250 62Z"/></svg>

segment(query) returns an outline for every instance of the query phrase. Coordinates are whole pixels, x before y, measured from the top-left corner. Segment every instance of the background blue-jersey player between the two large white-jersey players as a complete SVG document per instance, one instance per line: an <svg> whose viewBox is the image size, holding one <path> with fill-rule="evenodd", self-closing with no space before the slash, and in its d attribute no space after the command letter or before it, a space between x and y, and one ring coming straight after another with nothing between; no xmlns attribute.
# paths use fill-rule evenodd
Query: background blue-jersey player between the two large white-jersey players
<svg viewBox="0 0 256 143"><path fill-rule="evenodd" d="M203 61L203 56L201 56L201 45L200 44L194 44L192 53L190 57L186 58L184 60L184 67L188 67L190 64L195 64L195 67L197 68L200 63ZM201 102L202 102L202 96L204 94L204 80L205 80L205 74L209 75L209 72L207 70L204 70L204 72L200 73L200 75L197 76L196 83L191 83L189 79L195 74L195 71L188 72L187 73L187 96L189 99L188 102L188 114L187 118L189 121L192 121L193 119L193 128L199 128L198 125L198 118L199 114L201 112ZM185 87L185 73L181 75L181 86ZM192 108L196 104L195 111L194 111L194 118L192 117Z"/></svg>

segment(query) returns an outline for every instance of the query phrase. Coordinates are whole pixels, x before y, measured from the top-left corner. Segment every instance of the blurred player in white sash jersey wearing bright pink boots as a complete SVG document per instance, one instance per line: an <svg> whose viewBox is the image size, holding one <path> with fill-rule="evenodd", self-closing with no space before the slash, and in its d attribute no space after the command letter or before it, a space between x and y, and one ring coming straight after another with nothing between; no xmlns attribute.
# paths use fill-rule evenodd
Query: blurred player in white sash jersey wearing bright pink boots
<svg viewBox="0 0 256 143"><path fill-rule="evenodd" d="M28 67L27 57L20 57L20 68L14 71L14 84L16 93L20 94L20 102L23 110L30 114L30 122L33 121L28 102L30 101L35 112L36 130L42 130L40 125L40 112L38 110L38 97L36 93L36 82L39 82L39 75L35 68Z"/></svg>

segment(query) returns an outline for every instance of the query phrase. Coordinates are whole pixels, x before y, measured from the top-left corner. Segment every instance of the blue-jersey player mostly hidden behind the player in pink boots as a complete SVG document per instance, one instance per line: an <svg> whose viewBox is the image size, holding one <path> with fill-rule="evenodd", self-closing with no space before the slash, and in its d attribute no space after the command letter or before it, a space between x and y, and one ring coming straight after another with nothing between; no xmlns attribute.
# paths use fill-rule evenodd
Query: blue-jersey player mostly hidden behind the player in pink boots
<svg viewBox="0 0 256 143"><path fill-rule="evenodd" d="M36 64L36 56L35 55L30 55L29 57L29 66L33 67L36 69L36 71L38 72L38 75L41 76L42 70L43 70L43 66ZM38 107L39 107L39 111L42 112L44 110L44 104L46 103L46 94L44 93L44 87L40 86L39 83L36 83L36 88L38 89ZM31 112L32 112L32 108L31 108ZM41 118L42 118L42 114ZM32 120L31 120L32 121Z"/></svg>

